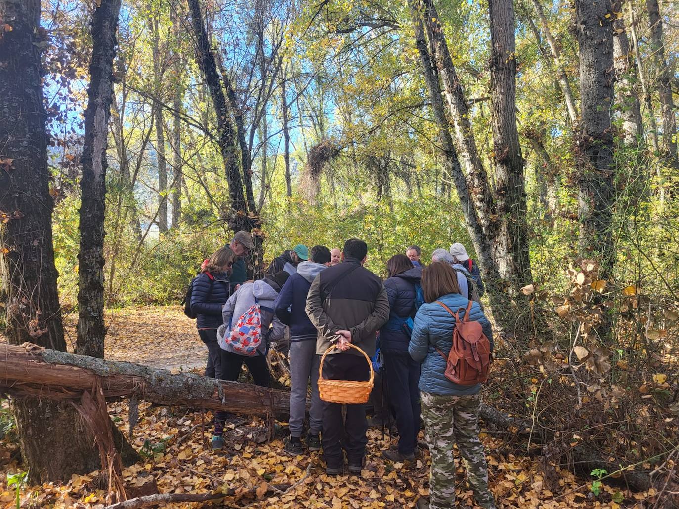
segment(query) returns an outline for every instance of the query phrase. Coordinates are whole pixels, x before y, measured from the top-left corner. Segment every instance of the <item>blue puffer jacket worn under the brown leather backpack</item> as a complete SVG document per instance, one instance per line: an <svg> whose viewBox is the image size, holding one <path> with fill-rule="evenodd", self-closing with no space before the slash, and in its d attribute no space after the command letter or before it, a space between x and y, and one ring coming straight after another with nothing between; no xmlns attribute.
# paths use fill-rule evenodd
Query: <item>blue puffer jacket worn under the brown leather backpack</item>
<svg viewBox="0 0 679 509"><path fill-rule="evenodd" d="M438 300L447 305L452 312L456 312L460 307L464 308L464 311L460 312L460 318L464 316L466 307L469 305L469 300L462 297L459 293L449 293L448 295L443 295ZM483 333L485 337L488 337L490 350L492 351L492 327L488 318L485 318L479 303L473 303L469 319L481 323ZM479 390L481 390L480 383L476 385L458 385L447 379L443 374L445 373L446 361L436 349L441 350L447 357L453 345L454 327L454 316L449 314L443 306L430 302L422 304L420 309L418 309L418 314L415 316L413 333L408 345L408 352L414 360L422 363L419 384L421 391L438 394L439 396L469 396L470 394L478 394Z"/></svg>

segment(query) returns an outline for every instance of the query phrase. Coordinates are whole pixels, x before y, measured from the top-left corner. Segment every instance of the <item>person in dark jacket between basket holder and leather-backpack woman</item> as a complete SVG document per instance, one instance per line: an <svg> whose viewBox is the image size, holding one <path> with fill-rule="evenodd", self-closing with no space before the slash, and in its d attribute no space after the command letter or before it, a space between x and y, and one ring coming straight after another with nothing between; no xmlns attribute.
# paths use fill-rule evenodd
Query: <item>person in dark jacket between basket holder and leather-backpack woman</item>
<svg viewBox="0 0 679 509"><path fill-rule="evenodd" d="M389 404L396 414L399 449L384 451L382 457L404 461L414 459L420 432L420 363L408 355L410 336L404 325L415 312L415 285L420 284L422 269L414 267L405 255L391 257L386 266L389 278L384 288L389 298L389 321L380 329L380 351Z"/></svg>

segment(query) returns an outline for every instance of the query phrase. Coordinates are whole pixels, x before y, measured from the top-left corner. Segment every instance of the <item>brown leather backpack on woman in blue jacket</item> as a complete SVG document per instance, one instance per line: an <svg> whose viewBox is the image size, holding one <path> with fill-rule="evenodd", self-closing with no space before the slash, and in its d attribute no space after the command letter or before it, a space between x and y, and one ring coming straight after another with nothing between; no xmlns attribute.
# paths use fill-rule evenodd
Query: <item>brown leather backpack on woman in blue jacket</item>
<svg viewBox="0 0 679 509"><path fill-rule="evenodd" d="M483 334L481 323L469 320L472 301L466 307L464 317L460 319L460 307L453 313L447 305L441 301L437 304L443 306L455 318L453 328L453 346L446 357L441 350L436 349L443 360L446 361L445 377L458 385L476 385L488 380L488 369L492 360L490 355L490 341Z"/></svg>

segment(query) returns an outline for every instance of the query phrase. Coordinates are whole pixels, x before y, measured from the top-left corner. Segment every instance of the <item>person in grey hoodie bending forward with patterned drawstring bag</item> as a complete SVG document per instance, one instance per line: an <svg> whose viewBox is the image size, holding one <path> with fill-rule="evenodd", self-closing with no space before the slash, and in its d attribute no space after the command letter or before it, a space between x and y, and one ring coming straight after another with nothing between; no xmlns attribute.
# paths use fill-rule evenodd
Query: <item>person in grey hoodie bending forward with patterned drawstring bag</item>
<svg viewBox="0 0 679 509"><path fill-rule="evenodd" d="M238 286L238 290L226 301L221 312L223 324L217 330L217 341L221 353L221 372L217 376L219 379L237 381L240 369L245 362L255 385L269 386L271 375L266 363L269 343L279 341L285 333L285 325L274 315L274 301L288 277L287 272L280 271L263 280L246 281ZM231 334L232 327L236 326L238 319L255 303L259 303L261 309L262 341L257 348L257 354L249 357L238 354L229 343L224 341L224 338ZM212 447L215 450L224 447L221 435L226 415L226 412L221 411L215 413L215 432L212 438Z"/></svg>

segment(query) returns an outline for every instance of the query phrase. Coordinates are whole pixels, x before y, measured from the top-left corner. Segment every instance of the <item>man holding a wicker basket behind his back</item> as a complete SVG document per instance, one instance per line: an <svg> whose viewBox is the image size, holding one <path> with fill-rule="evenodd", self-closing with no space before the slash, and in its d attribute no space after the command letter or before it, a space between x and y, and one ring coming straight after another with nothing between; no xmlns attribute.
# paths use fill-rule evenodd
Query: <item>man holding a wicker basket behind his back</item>
<svg viewBox="0 0 679 509"><path fill-rule="evenodd" d="M323 377L335 380L367 381L369 366L363 354L349 343L361 347L368 356L375 354L375 333L389 319L389 299L382 280L363 267L368 246L363 240L344 243L342 263L328 267L316 276L306 301L306 314L318 330L316 354L322 355L330 345L323 364ZM361 474L368 422L363 404L346 406L346 424L342 405L323 402L323 458L329 475L342 472L343 457L339 440L349 461L349 472Z"/></svg>

